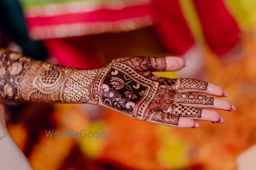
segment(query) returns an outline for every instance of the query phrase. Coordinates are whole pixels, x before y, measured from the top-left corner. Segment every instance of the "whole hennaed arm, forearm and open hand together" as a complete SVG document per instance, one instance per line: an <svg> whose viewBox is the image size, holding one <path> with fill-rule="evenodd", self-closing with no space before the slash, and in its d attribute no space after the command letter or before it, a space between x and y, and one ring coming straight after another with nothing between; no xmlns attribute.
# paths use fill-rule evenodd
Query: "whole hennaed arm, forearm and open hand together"
<svg viewBox="0 0 256 170"><path fill-rule="evenodd" d="M195 120L222 122L216 111L230 111L221 87L201 80L168 79L152 71L175 71L180 57L127 57L108 66L81 70L35 61L0 50L2 100L88 103L112 108L137 120L177 128L198 127Z"/></svg>

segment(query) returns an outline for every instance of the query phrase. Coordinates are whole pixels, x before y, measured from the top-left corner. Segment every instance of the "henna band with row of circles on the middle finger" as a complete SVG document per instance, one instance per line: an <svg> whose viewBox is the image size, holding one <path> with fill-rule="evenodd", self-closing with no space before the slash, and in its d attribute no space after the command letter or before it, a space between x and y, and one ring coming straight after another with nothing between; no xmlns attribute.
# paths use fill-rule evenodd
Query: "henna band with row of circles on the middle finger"
<svg viewBox="0 0 256 170"><path fill-rule="evenodd" d="M197 95L193 93L180 93L176 94L175 101L177 103L186 104L203 104L203 105L213 105L213 97L205 95Z"/></svg>

